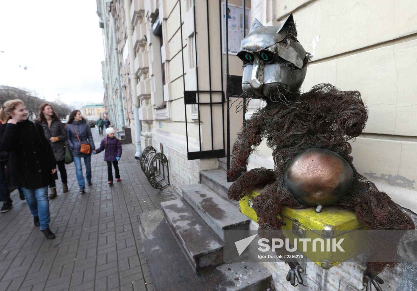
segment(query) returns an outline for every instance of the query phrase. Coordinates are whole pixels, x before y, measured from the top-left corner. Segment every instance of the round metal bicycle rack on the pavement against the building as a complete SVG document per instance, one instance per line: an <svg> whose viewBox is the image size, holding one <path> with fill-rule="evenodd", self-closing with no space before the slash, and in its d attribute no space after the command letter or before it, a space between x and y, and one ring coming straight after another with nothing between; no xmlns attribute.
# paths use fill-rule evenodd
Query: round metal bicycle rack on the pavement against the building
<svg viewBox="0 0 417 291"><path fill-rule="evenodd" d="M146 147L143 150L141 169L153 188L163 189L169 185L168 159L163 154L162 144L161 152L159 153L152 146Z"/></svg>

